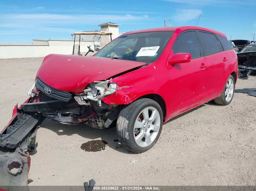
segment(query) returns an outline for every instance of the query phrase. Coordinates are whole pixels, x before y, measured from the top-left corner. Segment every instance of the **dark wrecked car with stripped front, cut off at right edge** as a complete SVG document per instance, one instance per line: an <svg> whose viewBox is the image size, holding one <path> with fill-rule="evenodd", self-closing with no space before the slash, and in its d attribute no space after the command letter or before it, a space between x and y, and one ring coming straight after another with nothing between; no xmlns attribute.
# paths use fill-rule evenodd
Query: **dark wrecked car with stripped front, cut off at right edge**
<svg viewBox="0 0 256 191"><path fill-rule="evenodd" d="M239 53L238 58L238 78L248 79L250 74L256 73L256 44L244 47Z"/></svg>

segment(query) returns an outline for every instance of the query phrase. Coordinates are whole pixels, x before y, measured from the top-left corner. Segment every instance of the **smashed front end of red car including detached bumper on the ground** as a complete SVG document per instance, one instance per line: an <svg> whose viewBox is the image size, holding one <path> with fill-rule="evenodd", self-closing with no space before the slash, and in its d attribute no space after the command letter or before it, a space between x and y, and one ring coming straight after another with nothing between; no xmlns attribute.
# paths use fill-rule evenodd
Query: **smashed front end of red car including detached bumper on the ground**
<svg viewBox="0 0 256 191"><path fill-rule="evenodd" d="M0 134L0 188L27 188L28 151L36 149L36 132L46 117L63 124L85 123L99 129L115 125L120 105L106 104L101 99L116 89L117 84L108 80L94 81L82 93L74 94L52 88L37 78L28 91L30 97L21 107L15 106L11 121Z"/></svg>

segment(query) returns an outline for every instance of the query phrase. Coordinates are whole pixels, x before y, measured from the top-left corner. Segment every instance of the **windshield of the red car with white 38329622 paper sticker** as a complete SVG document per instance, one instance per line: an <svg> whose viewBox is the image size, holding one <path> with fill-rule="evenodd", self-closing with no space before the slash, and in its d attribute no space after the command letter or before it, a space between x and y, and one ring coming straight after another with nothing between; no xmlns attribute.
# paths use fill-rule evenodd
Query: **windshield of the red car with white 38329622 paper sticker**
<svg viewBox="0 0 256 191"><path fill-rule="evenodd" d="M118 37L94 56L136 62L155 62L174 31L127 34Z"/></svg>

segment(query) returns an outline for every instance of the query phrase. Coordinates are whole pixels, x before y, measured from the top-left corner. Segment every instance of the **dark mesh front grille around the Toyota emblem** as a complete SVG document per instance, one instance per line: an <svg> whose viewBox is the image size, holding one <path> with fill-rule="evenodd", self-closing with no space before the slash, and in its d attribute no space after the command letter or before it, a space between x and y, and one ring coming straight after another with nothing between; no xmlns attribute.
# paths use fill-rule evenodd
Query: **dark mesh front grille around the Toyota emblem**
<svg viewBox="0 0 256 191"><path fill-rule="evenodd" d="M36 78L35 86L44 93L45 93L45 88L48 88L51 91L51 93L45 94L45 95L55 98L57 100L62 100L62 101L68 102L68 100L70 100L70 98L71 98L70 93L68 93L66 91L56 90L55 88L52 88L51 86L48 86L47 84L45 84L38 77Z"/></svg>

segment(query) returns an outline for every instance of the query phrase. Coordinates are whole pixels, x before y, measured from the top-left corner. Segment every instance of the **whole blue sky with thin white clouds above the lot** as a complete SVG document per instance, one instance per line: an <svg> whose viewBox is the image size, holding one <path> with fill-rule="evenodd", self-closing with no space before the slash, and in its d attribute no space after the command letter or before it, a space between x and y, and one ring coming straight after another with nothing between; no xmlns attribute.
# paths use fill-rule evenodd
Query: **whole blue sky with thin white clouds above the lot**
<svg viewBox="0 0 256 191"><path fill-rule="evenodd" d="M0 43L32 39L71 39L71 33L121 24L120 32L196 25L218 30L228 39L252 40L256 33L255 0L112 0L0 1ZM256 37L255 37L256 39Z"/></svg>

